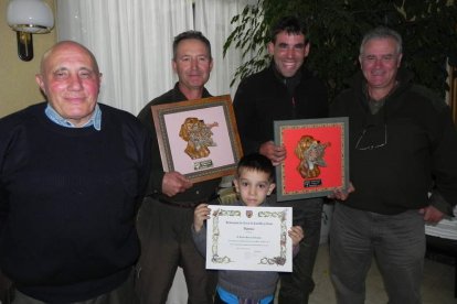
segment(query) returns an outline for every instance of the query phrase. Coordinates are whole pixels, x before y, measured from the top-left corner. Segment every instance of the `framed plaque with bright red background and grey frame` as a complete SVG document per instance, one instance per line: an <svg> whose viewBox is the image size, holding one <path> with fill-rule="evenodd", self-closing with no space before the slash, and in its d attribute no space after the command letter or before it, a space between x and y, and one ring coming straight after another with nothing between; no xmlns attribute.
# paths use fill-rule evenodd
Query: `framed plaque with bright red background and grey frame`
<svg viewBox="0 0 457 304"><path fill-rule="evenodd" d="M286 160L276 166L277 200L327 196L349 183L348 118L275 121L275 143Z"/></svg>

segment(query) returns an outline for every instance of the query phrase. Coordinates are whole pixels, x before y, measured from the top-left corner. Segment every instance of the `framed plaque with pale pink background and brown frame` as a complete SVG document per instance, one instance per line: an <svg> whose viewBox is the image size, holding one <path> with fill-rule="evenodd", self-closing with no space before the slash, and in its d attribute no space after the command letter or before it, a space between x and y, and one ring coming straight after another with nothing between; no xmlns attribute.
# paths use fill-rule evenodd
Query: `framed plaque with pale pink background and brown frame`
<svg viewBox="0 0 457 304"><path fill-rule="evenodd" d="M151 106L166 172L192 182L232 175L242 156L230 95Z"/></svg>

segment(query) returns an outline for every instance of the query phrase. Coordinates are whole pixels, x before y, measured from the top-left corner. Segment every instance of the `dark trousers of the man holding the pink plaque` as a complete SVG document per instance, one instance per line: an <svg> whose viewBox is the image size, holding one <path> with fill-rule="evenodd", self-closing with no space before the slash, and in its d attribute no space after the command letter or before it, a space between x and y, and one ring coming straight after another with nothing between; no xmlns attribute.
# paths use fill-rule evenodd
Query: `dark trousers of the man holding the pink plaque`
<svg viewBox="0 0 457 304"><path fill-rule="evenodd" d="M193 208L145 198L137 221L141 256L136 290L141 304L166 303L178 267L184 272L188 303L212 303L216 273L205 270L205 260L193 243L192 222Z"/></svg>

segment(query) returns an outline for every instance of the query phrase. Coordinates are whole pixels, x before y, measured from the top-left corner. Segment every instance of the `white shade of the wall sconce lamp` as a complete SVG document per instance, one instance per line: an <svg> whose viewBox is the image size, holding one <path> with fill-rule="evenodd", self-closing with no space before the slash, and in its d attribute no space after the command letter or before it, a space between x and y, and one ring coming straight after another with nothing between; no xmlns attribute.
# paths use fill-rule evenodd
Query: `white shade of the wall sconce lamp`
<svg viewBox="0 0 457 304"><path fill-rule="evenodd" d="M52 10L43 0L10 0L7 21L14 31L33 34L49 33L54 26Z"/></svg>

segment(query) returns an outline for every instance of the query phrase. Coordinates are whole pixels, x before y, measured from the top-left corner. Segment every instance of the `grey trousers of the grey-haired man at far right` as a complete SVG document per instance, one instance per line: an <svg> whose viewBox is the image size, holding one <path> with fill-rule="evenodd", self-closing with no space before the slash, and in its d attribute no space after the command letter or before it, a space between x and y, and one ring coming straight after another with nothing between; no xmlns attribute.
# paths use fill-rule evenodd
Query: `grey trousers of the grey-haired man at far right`
<svg viewBox="0 0 457 304"><path fill-rule="evenodd" d="M373 256L389 303L421 303L423 216L417 210L381 215L336 204L330 227L330 272L339 304L364 303Z"/></svg>

